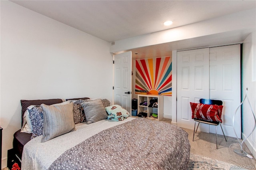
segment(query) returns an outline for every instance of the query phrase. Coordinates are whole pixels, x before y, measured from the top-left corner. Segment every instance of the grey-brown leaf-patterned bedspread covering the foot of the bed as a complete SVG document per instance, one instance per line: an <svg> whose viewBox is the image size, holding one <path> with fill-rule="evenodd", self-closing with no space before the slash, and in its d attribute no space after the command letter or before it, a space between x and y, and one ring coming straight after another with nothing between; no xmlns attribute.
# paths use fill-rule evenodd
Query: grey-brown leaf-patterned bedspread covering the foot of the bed
<svg viewBox="0 0 256 170"><path fill-rule="evenodd" d="M66 150L53 169L185 170L190 143L179 127L137 118L108 128Z"/></svg>

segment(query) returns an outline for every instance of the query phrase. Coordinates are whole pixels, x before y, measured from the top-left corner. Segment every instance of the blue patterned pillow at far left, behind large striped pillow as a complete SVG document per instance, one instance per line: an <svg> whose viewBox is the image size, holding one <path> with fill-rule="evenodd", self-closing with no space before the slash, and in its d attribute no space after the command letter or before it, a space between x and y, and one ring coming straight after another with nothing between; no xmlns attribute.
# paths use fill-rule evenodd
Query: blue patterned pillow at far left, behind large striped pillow
<svg viewBox="0 0 256 170"><path fill-rule="evenodd" d="M44 115L40 106L28 107L28 113L33 127L31 139L43 134Z"/></svg>

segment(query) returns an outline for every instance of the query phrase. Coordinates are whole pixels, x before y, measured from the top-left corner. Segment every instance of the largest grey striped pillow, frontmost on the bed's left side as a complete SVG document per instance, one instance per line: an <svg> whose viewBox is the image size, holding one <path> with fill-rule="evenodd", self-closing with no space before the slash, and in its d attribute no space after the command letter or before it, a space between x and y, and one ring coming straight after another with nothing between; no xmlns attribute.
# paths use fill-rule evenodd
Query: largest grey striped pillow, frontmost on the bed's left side
<svg viewBox="0 0 256 170"><path fill-rule="evenodd" d="M40 105L44 114L44 130L41 142L75 130L73 103L66 105Z"/></svg>

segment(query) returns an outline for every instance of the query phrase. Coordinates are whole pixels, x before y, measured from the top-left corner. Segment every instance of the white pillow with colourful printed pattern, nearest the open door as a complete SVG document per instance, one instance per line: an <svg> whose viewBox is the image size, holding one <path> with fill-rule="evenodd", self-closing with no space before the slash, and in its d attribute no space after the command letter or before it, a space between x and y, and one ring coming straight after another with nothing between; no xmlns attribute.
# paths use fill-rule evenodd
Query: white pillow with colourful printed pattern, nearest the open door
<svg viewBox="0 0 256 170"><path fill-rule="evenodd" d="M112 105L105 107L105 109L108 113L108 119L114 119L115 121L122 121L130 116L130 113L120 105Z"/></svg>

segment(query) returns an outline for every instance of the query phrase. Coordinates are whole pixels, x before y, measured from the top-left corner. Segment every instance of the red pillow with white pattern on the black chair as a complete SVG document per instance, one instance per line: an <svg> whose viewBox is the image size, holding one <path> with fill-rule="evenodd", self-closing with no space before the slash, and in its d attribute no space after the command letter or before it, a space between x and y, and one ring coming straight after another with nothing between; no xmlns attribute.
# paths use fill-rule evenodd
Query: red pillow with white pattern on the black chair
<svg viewBox="0 0 256 170"><path fill-rule="evenodd" d="M208 121L216 121L222 123L222 105L206 105L202 103L190 102L190 106L192 110L192 119L204 119Z"/></svg>

